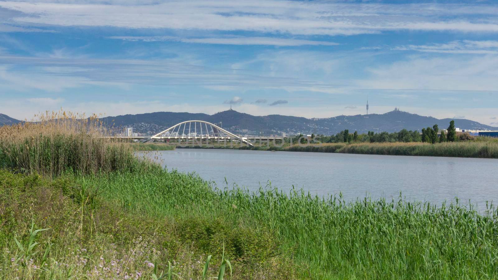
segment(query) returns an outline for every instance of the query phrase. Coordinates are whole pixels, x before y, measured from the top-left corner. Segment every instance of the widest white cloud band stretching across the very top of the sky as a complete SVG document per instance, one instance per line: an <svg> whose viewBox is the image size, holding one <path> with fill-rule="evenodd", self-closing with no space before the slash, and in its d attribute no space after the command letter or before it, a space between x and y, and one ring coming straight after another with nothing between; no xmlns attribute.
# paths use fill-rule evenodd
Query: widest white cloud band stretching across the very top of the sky
<svg viewBox="0 0 498 280"><path fill-rule="evenodd" d="M495 20L497 7L484 4L360 4L284 0L100 3L102 1L5 1L0 2L0 7L23 13L12 17L14 22L60 26L246 30L302 35L354 35L382 30L498 31ZM456 15L458 19L449 19Z"/></svg>

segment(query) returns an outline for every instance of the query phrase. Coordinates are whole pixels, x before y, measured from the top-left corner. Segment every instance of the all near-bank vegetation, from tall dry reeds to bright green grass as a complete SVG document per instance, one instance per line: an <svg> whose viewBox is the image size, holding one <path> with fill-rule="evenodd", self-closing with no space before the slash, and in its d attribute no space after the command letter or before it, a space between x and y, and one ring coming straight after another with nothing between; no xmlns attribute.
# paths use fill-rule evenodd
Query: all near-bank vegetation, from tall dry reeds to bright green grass
<svg viewBox="0 0 498 280"><path fill-rule="evenodd" d="M0 279L498 278L492 205L213 189L86 131L0 130Z"/></svg>

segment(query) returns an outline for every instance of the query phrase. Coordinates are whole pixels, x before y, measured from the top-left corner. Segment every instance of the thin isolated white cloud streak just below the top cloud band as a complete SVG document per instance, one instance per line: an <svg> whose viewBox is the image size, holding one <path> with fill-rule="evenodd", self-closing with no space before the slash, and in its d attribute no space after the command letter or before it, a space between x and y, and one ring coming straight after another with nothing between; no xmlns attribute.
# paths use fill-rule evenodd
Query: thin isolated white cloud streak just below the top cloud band
<svg viewBox="0 0 498 280"><path fill-rule="evenodd" d="M221 45L271 45L271 46L303 46L303 45L339 45L327 41L311 41L300 39L274 38L274 37L234 37L234 38L181 38L174 36L111 36L111 39L125 41L176 41L184 43L221 44Z"/></svg>

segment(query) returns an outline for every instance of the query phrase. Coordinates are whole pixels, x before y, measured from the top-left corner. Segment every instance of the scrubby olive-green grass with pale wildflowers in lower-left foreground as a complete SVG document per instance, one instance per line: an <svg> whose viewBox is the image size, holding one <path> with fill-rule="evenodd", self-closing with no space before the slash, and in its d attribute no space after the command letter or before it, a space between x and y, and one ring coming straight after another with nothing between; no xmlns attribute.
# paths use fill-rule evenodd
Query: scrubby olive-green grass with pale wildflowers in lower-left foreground
<svg viewBox="0 0 498 280"><path fill-rule="evenodd" d="M141 175L147 173L143 183L153 183L153 175L169 183L191 180L192 187L205 186L199 193L209 191L198 178L160 169ZM232 227L226 217L169 215L165 206L143 207L141 196L139 203L113 199L99 188L127 176L138 174L46 179L0 170L0 279L151 279L168 271L180 276L173 279L201 279L208 254L208 277L219 275L223 258L233 279L295 275L290 260L268 255L277 243L262 228ZM46 230L32 234L39 229Z"/></svg>

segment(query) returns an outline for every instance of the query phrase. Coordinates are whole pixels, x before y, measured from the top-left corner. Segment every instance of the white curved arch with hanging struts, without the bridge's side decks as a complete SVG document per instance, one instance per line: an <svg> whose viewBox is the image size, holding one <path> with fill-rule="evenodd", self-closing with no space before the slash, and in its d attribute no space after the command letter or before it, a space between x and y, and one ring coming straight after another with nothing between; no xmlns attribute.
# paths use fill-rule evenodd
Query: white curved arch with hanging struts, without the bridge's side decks
<svg viewBox="0 0 498 280"><path fill-rule="evenodd" d="M243 139L221 127L206 121L185 121L170 127L149 139L145 140L241 140L243 143L253 146L248 140Z"/></svg>

